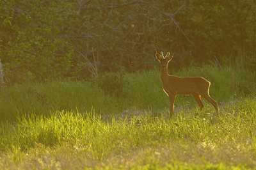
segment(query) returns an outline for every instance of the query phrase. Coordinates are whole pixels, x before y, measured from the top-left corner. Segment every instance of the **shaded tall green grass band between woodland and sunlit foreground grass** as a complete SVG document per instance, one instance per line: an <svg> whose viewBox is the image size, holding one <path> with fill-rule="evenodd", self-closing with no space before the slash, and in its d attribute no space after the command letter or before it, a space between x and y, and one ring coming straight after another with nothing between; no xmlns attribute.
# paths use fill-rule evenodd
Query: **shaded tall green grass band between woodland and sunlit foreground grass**
<svg viewBox="0 0 256 170"><path fill-rule="evenodd" d="M244 68L234 69L226 66L223 70L214 65L202 68L191 67L179 72L178 76L201 76L211 81L209 93L216 102L227 102L244 95L255 94L256 73ZM101 114L118 114L124 110L136 108L151 112L166 109L169 105L164 93L159 70L124 73L112 81L111 77L120 77L111 73L101 82L95 81L54 81L46 84L26 84L12 86L0 91L1 121L16 121L18 117L28 115L49 116L50 112L72 111L86 112L95 109ZM98 84L110 81L104 89ZM115 86L115 83L116 84ZM115 87L118 88L115 91ZM122 86L122 87L121 87ZM122 89L122 90L120 90ZM106 91L113 92L112 95ZM118 95L115 95L118 94ZM207 104L207 102L204 102ZM191 96L177 96L175 107L196 107Z"/></svg>

